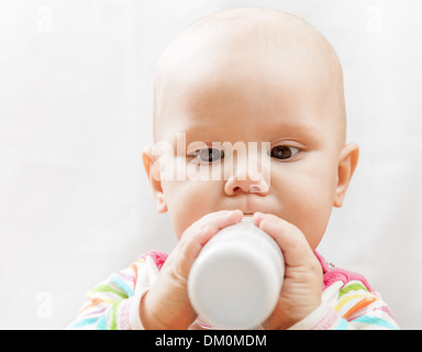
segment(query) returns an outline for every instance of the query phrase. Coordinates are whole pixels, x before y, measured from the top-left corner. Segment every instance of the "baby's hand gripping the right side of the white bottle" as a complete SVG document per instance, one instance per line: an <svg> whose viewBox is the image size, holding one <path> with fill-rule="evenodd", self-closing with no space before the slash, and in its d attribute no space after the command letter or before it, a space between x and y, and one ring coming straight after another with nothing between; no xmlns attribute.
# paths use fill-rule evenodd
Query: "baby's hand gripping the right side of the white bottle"
<svg viewBox="0 0 422 352"><path fill-rule="evenodd" d="M293 224L260 212L254 215L254 222L276 240L286 263L278 304L263 326L268 330L287 329L321 304L321 264L303 233Z"/></svg>

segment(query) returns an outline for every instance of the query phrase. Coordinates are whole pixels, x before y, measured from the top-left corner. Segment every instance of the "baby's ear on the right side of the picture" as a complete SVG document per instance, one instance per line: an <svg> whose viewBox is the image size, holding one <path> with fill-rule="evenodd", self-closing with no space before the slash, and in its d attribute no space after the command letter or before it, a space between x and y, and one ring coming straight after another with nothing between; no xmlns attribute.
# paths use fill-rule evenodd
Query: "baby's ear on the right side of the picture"
<svg viewBox="0 0 422 352"><path fill-rule="evenodd" d="M346 144L340 152L337 186L334 195L334 207L342 207L347 187L359 160L359 146L356 143Z"/></svg>

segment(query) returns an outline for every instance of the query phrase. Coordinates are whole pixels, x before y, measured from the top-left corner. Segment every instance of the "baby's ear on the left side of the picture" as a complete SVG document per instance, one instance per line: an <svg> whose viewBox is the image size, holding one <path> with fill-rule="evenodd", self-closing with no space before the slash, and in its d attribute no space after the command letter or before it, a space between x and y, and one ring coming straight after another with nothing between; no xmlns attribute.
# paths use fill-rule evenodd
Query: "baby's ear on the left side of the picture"
<svg viewBox="0 0 422 352"><path fill-rule="evenodd" d="M162 175L159 172L159 162L153 147L146 147L142 152L142 161L144 163L146 175L148 176L151 187L153 188L154 198L158 212L167 211L167 204L162 187Z"/></svg>

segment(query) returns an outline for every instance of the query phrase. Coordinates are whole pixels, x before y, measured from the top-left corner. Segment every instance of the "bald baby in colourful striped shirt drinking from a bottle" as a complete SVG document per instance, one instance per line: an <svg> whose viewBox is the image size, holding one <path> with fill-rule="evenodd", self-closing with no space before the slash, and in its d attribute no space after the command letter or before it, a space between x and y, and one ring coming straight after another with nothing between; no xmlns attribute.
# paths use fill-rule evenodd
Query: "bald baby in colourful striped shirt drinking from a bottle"
<svg viewBox="0 0 422 352"><path fill-rule="evenodd" d="M155 147L143 154L178 244L89 292L70 328L211 329L190 305L189 272L219 230L248 215L286 262L278 304L259 328L397 329L363 276L315 252L358 161L345 130L341 64L304 21L236 9L187 28L157 65ZM167 146L165 158L158 145ZM235 145L255 147L234 153Z"/></svg>

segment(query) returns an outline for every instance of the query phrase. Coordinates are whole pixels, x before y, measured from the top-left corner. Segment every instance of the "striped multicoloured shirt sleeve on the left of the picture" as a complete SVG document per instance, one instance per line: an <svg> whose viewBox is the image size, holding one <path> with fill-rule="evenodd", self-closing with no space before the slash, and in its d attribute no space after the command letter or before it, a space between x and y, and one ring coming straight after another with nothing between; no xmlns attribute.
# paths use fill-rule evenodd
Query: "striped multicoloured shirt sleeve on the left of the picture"
<svg viewBox="0 0 422 352"><path fill-rule="evenodd" d="M143 329L140 301L152 287L158 267L149 255L140 257L123 271L110 275L86 295L70 330Z"/></svg>

